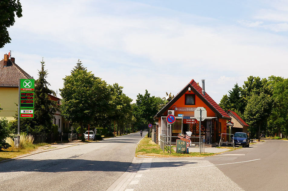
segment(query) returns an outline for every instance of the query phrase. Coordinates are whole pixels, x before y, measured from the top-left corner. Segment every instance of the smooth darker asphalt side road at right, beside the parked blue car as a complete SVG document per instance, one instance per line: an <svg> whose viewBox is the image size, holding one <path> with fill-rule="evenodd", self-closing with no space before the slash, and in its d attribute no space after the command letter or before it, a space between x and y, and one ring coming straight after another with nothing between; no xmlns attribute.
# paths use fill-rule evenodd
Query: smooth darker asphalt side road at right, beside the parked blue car
<svg viewBox="0 0 288 191"><path fill-rule="evenodd" d="M244 190L288 190L288 141L264 139L223 155L205 158ZM259 159L259 160L255 160ZM237 163L241 161L246 163Z"/></svg>

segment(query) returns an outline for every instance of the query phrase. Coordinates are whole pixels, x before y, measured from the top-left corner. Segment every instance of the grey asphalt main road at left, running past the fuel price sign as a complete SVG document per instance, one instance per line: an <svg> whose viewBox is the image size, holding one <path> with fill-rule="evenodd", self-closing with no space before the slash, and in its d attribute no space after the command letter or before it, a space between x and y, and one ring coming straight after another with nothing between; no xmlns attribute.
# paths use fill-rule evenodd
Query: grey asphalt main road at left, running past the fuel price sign
<svg viewBox="0 0 288 191"><path fill-rule="evenodd" d="M106 190L126 172L142 138L138 132L0 163L0 190Z"/></svg>

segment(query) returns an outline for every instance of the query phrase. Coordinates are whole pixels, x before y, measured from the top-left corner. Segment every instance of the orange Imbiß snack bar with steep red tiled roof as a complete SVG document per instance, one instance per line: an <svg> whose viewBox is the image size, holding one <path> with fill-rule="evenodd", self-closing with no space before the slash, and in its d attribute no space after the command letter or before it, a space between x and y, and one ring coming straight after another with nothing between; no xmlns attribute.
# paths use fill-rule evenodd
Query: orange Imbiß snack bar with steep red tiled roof
<svg viewBox="0 0 288 191"><path fill-rule="evenodd" d="M207 112L207 117L201 122L201 127L199 127L199 121L194 116L197 107L204 107ZM219 143L221 133L226 133L227 120L231 120L231 117L205 92L204 80L202 80L201 88L199 83L192 79L154 116L156 124L158 123L158 137L160 137L160 134L170 136L166 121L169 114L175 116L171 135L175 138L172 139L172 142L176 142L179 133L185 133L186 131L192 132L191 137L199 137L200 128L201 137L205 137L205 144L208 144L208 146L216 146L215 143ZM222 136L222 138L224 138L223 141L226 141L226 136ZM158 141L158 143L160 142Z"/></svg>

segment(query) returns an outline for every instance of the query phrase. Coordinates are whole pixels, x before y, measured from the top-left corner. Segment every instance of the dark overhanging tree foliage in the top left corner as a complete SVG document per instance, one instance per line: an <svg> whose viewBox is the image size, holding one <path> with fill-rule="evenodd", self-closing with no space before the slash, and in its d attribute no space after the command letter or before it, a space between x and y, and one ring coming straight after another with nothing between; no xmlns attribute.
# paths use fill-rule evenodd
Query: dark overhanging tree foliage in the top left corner
<svg viewBox="0 0 288 191"><path fill-rule="evenodd" d="M22 6L19 0L0 1L0 48L11 42L7 28L14 25L15 13L18 18L22 17Z"/></svg>

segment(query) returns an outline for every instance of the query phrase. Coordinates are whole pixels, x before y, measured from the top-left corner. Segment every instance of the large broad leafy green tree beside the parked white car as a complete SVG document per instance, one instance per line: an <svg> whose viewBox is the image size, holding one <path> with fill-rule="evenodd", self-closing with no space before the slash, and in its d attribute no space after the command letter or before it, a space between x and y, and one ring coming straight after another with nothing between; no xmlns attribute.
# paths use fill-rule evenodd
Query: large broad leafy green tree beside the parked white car
<svg viewBox="0 0 288 191"><path fill-rule="evenodd" d="M84 132L83 126L95 122L105 111L107 84L91 72L87 72L80 60L71 71L71 75L64 78L64 87L60 92L62 116L79 123L81 135Z"/></svg>

